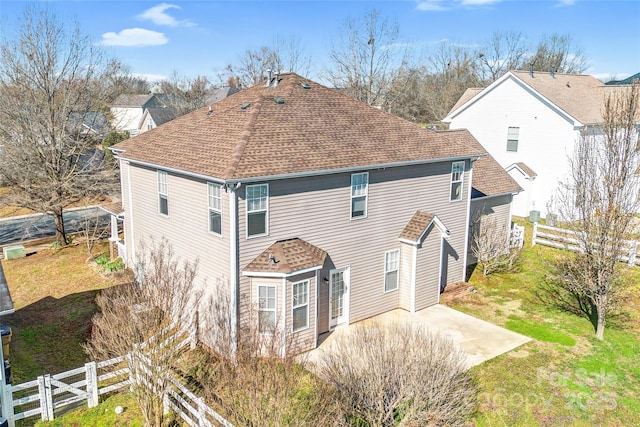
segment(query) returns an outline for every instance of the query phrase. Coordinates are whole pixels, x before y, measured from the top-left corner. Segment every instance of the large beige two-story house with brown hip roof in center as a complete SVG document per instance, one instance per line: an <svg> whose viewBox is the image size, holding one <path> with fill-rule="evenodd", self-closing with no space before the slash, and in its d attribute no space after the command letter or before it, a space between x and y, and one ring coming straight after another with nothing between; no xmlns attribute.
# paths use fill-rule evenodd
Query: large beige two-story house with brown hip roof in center
<svg viewBox="0 0 640 427"><path fill-rule="evenodd" d="M423 129L296 74L113 149L127 265L167 238L226 293L234 327L275 325L296 335L293 351L437 304L465 280L472 193L508 226L519 191L468 131Z"/></svg>

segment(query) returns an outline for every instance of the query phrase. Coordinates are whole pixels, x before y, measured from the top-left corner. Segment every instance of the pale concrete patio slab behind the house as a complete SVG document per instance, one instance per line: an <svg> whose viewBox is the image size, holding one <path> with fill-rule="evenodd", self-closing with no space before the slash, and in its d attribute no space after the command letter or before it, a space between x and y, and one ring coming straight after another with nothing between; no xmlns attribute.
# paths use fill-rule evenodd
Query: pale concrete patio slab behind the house
<svg viewBox="0 0 640 427"><path fill-rule="evenodd" d="M467 357L467 367L469 368L531 341L529 337L440 304L414 314L400 309L392 310L370 320L382 323L424 322L433 333L449 338L462 349ZM349 326L342 326L322 336L322 342L318 348L308 353L308 360L317 363L322 358L322 353L331 351L331 342L335 337L348 333Z"/></svg>

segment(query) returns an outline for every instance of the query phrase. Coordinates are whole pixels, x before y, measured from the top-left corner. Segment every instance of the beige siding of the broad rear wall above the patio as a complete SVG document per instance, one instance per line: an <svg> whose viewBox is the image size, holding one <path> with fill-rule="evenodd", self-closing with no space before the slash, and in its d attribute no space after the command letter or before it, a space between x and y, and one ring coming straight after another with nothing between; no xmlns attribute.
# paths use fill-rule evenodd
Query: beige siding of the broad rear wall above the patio
<svg viewBox="0 0 640 427"><path fill-rule="evenodd" d="M238 191L239 266L276 240L299 237L327 251L329 268L351 267L349 322L398 308L400 292L384 292L384 253L400 248L398 236L416 210L437 214L451 230L454 253L447 277L451 282L464 277L469 176L466 162L462 200L451 202L451 162L371 170L367 218L355 220L350 216L350 173L271 181L269 235L250 239L243 185ZM437 258L429 264L437 274ZM241 294L248 285L242 278ZM320 298L328 298L324 286ZM324 315L325 301L320 303Z"/></svg>

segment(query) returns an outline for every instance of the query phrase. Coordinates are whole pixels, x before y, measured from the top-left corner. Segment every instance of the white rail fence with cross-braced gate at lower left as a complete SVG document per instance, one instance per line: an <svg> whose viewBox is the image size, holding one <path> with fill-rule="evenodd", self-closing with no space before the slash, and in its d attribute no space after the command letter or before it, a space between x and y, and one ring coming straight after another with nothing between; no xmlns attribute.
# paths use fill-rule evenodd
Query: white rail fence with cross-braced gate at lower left
<svg viewBox="0 0 640 427"><path fill-rule="evenodd" d="M184 347L191 342L186 338L178 344ZM3 405L10 427L18 420L40 416L40 419L53 420L64 409L76 408L86 401L89 408L98 405L100 396L131 387L132 384L143 384L156 391L156 384L161 381L153 377L151 360L142 351L135 352L135 363L141 363L137 374L132 374L129 364L133 354L117 357L104 362L89 362L83 367L72 369L55 375L41 375L33 381L15 386L6 385ZM140 373L144 373L141 375ZM204 399L198 397L176 376L169 375L169 387L163 396L165 410L173 410L189 426L233 427L229 421L211 409Z"/></svg>

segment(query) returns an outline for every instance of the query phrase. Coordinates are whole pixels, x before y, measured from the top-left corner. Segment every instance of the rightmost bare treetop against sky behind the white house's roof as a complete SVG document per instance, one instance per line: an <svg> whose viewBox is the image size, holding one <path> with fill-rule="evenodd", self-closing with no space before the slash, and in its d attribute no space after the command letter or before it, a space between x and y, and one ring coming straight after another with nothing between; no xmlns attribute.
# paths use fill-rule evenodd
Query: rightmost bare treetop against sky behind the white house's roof
<svg viewBox="0 0 640 427"><path fill-rule="evenodd" d="M587 69L587 58L569 34L553 33L543 36L536 51L528 59L536 71L580 74Z"/></svg>

